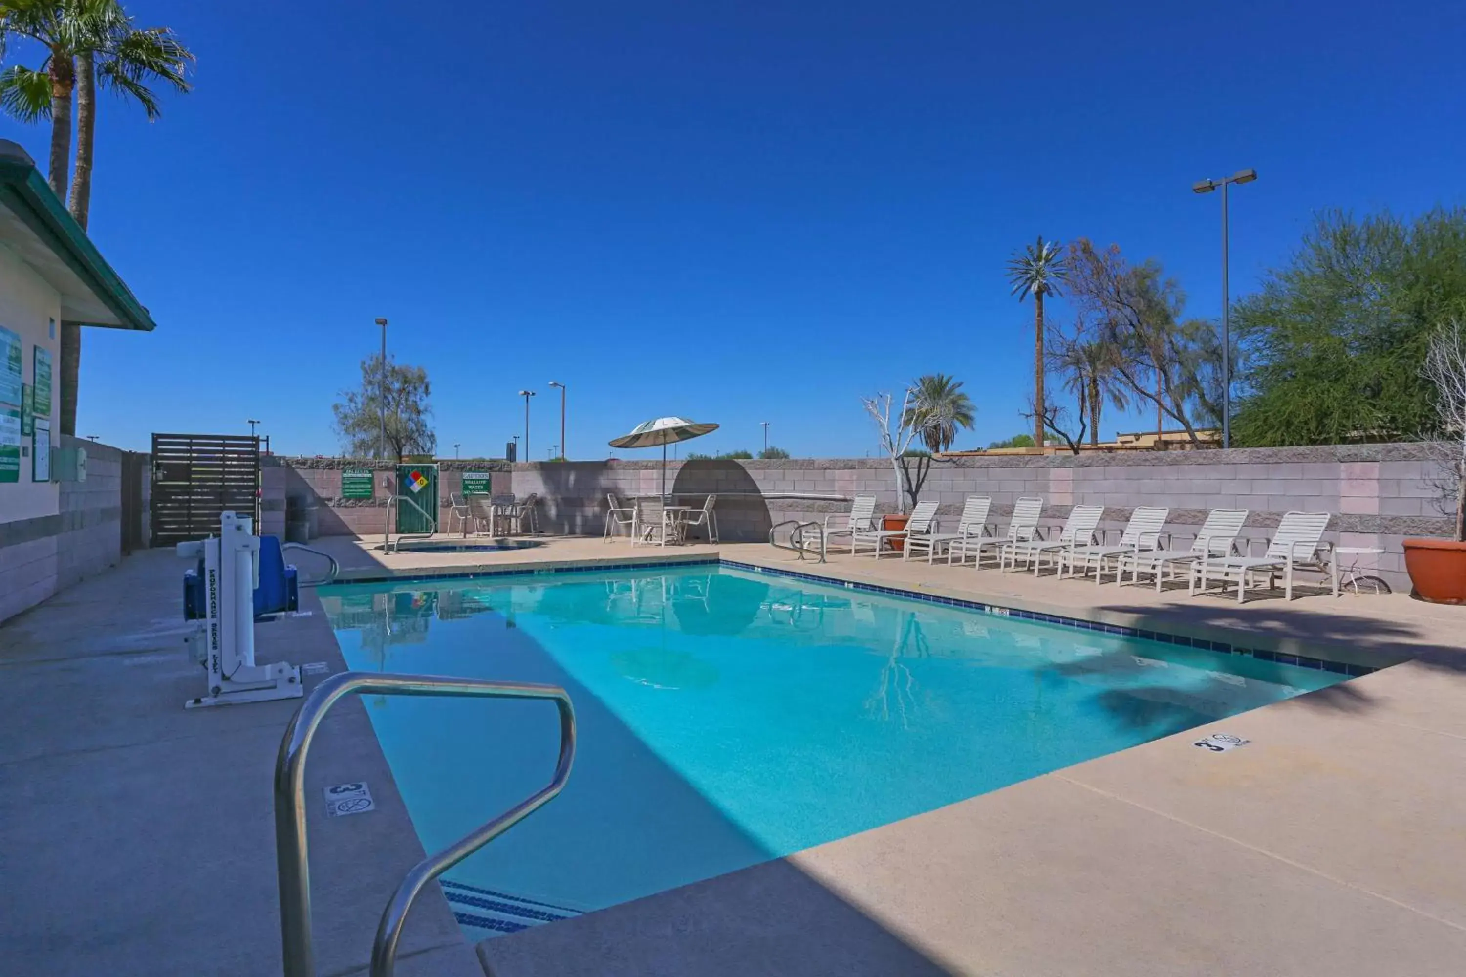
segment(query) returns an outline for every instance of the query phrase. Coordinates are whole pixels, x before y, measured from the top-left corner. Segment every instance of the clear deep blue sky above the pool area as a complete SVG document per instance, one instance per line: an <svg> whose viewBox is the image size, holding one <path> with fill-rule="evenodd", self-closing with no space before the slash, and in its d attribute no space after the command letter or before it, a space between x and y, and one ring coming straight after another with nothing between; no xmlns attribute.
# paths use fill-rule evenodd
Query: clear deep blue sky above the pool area
<svg viewBox="0 0 1466 977"><path fill-rule="evenodd" d="M550 379L572 457L666 413L723 425L701 450L768 420L862 456L858 397L932 371L966 381L979 447L1029 426L1003 265L1035 234L1155 256L1209 316L1198 179L1261 174L1234 293L1318 208L1466 201L1460 4L128 6L199 62L157 125L101 105L92 234L158 330L88 331L78 426L123 447L259 417L336 453L375 316L447 456L498 454L531 387L544 457ZM44 160L43 129L0 135Z"/></svg>

